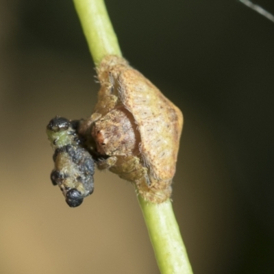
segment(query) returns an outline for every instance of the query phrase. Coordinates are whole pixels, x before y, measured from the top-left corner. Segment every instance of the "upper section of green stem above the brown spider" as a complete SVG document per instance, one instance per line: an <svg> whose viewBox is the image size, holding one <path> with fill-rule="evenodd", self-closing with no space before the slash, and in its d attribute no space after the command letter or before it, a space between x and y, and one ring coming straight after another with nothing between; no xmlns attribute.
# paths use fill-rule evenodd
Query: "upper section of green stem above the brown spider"
<svg viewBox="0 0 274 274"><path fill-rule="evenodd" d="M74 5L95 65L97 66L105 55L121 56L119 43L104 1L74 0Z"/></svg>

